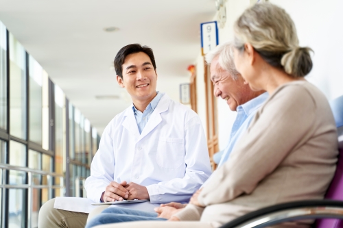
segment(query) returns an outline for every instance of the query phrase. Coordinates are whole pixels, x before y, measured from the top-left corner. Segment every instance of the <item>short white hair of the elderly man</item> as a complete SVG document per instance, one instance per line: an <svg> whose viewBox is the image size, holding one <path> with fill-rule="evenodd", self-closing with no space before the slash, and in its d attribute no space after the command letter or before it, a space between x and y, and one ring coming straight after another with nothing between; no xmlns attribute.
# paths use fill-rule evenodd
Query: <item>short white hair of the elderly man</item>
<svg viewBox="0 0 343 228"><path fill-rule="evenodd" d="M235 62L233 62L233 45L231 42L224 42L222 45L218 45L215 49L211 50L205 55L206 64L211 64L214 58L219 56L218 63L225 71L237 80L239 73L235 68Z"/></svg>

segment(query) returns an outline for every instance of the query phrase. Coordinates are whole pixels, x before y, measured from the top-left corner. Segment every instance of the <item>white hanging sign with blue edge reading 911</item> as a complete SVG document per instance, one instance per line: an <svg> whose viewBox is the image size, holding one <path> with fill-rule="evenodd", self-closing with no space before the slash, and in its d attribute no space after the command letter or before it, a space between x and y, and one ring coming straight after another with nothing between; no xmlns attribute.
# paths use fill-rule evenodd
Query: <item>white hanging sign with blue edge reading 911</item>
<svg viewBox="0 0 343 228"><path fill-rule="evenodd" d="M209 53L209 51L219 44L217 21L201 23L200 31L201 53L202 55L206 55L206 53Z"/></svg>

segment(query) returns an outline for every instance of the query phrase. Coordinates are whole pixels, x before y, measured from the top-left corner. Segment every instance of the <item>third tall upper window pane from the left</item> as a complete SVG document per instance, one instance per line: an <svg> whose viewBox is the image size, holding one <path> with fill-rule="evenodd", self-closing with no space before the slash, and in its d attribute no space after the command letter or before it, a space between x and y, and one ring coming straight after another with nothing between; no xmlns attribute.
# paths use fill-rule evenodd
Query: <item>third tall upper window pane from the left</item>
<svg viewBox="0 0 343 228"><path fill-rule="evenodd" d="M43 68L29 55L29 140L42 144Z"/></svg>

